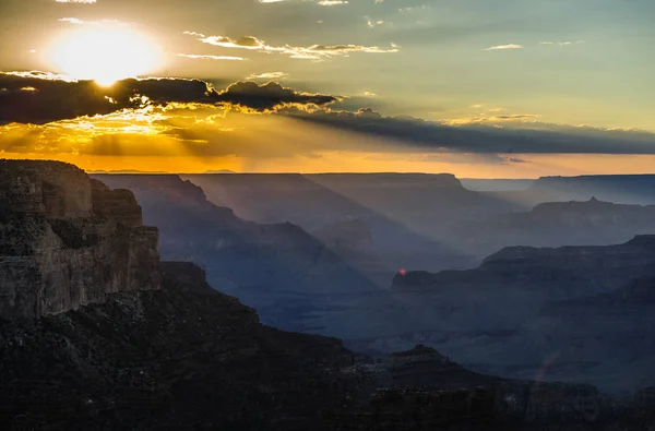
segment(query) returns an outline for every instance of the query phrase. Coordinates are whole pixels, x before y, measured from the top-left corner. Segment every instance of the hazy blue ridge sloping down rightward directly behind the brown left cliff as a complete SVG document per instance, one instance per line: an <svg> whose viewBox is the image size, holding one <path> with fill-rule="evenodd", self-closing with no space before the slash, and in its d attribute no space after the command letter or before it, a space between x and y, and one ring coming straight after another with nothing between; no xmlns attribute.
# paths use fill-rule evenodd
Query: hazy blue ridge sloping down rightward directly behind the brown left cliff
<svg viewBox="0 0 655 431"><path fill-rule="evenodd" d="M241 288L329 294L374 287L314 237L290 223L261 225L209 202L178 176L98 176L132 190L147 223L159 227L167 260L193 261L210 279Z"/></svg>

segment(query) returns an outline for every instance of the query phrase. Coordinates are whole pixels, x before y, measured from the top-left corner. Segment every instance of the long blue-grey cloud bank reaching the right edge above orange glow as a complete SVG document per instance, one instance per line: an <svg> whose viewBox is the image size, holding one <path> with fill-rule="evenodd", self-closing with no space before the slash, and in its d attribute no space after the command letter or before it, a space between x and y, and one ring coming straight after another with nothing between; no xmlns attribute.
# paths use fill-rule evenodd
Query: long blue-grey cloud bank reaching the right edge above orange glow
<svg viewBox="0 0 655 431"><path fill-rule="evenodd" d="M523 123L531 116L493 117L499 123L448 125L412 117L382 117L369 108L357 112L288 115L300 121L393 140L408 151L477 154L655 154L655 133L547 123ZM478 119L479 120L479 119ZM502 121L514 121L503 123ZM520 163L520 159L511 159Z"/></svg>

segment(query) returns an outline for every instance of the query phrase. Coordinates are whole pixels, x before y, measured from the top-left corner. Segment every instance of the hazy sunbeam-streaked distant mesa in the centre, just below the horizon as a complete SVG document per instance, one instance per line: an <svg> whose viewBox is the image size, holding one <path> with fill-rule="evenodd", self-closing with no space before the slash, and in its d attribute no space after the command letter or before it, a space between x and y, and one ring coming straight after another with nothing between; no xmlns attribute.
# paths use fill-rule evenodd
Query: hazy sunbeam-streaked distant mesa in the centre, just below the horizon
<svg viewBox="0 0 655 431"><path fill-rule="evenodd" d="M440 240L444 232L454 220L514 208L504 201L465 190L452 175L239 173L182 178L202 187L211 202L235 209L239 217L258 223L290 222L331 248L336 240L337 254L382 288L400 267L441 271L474 265L465 253ZM349 247L354 239L343 238L349 228L355 228L354 234L365 241L365 230L370 232L374 250L354 251ZM340 238L335 238L335 230Z"/></svg>

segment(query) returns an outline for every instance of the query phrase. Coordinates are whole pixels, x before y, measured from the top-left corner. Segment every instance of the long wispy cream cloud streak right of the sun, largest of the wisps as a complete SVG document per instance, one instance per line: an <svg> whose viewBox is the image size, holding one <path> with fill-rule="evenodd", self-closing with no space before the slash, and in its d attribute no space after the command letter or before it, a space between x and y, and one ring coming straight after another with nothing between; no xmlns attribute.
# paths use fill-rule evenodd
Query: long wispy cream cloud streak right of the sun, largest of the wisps
<svg viewBox="0 0 655 431"><path fill-rule="evenodd" d="M238 39L233 39L226 36L206 36L202 33L196 32L183 32L186 35L193 36L203 44L217 46L221 48L233 48L233 49L249 49L258 52L276 52L290 56L295 59L305 60L322 60L332 57L345 57L353 52L366 52L366 53L393 53L398 52L398 46L391 44L390 48L381 48L377 46L362 46L362 45L312 45L309 47L294 47L290 45L285 46L271 46L262 39L254 36L242 36Z"/></svg>

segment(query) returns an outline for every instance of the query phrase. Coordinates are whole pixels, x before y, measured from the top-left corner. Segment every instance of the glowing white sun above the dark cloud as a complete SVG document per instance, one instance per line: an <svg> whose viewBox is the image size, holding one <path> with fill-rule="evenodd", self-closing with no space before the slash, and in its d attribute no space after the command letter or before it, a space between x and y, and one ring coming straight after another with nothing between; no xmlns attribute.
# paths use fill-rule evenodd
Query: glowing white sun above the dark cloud
<svg viewBox="0 0 655 431"><path fill-rule="evenodd" d="M58 72L100 85L152 72L162 61L148 37L115 23L80 26L53 40L49 52Z"/></svg>

